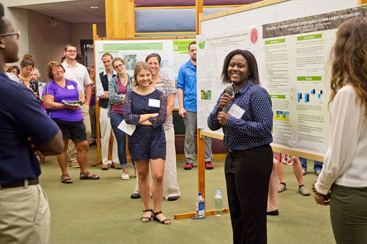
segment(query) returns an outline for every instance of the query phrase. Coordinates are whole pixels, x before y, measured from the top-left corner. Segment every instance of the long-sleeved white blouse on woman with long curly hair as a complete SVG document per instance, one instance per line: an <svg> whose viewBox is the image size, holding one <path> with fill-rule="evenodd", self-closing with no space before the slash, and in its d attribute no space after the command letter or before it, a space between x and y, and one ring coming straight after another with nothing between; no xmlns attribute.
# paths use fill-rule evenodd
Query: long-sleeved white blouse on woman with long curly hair
<svg viewBox="0 0 367 244"><path fill-rule="evenodd" d="M366 108L352 86L336 94L331 112L330 146L324 156L321 174L315 185L327 194L331 185L367 186L367 118Z"/></svg>

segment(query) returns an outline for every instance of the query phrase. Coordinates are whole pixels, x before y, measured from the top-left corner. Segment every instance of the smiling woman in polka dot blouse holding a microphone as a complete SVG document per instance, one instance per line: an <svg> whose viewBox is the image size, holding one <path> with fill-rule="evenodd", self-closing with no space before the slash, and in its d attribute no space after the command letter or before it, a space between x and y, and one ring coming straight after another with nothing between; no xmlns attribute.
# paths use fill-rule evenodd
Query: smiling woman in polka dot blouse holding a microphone
<svg viewBox="0 0 367 244"><path fill-rule="evenodd" d="M224 60L223 84L231 84L218 99L207 124L223 128L228 148L225 175L233 243L266 243L269 178L273 167L273 111L268 92L259 86L255 57L236 49ZM224 107L228 111L222 111Z"/></svg>

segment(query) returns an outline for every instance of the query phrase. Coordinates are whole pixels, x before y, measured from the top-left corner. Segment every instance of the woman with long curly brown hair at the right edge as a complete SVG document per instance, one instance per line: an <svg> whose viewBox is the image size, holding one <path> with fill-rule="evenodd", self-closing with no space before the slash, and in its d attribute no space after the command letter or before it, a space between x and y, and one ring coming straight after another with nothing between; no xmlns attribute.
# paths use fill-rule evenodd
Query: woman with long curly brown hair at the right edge
<svg viewBox="0 0 367 244"><path fill-rule="evenodd" d="M330 146L313 186L336 243L367 240L367 19L345 21L331 53ZM331 194L330 194L331 193Z"/></svg>

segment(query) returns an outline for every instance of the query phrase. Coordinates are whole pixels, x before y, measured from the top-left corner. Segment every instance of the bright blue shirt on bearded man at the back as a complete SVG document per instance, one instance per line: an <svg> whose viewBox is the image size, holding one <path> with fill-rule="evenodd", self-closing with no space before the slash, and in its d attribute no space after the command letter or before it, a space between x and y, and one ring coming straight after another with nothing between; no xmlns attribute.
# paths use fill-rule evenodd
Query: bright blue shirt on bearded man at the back
<svg viewBox="0 0 367 244"><path fill-rule="evenodd" d="M184 109L196 112L196 67L191 60L180 67L177 88L184 90Z"/></svg>

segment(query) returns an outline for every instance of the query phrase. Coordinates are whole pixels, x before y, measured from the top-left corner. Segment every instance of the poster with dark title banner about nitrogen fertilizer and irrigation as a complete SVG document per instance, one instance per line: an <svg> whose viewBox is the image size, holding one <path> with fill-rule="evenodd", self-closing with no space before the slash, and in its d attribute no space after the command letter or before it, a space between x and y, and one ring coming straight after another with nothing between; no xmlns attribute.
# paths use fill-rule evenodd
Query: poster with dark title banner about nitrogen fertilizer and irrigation
<svg viewBox="0 0 367 244"><path fill-rule="evenodd" d="M274 143L325 153L329 145L330 51L339 25L366 6L263 25L263 81Z"/></svg>

